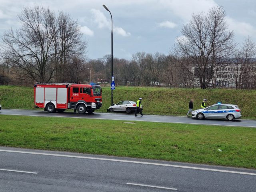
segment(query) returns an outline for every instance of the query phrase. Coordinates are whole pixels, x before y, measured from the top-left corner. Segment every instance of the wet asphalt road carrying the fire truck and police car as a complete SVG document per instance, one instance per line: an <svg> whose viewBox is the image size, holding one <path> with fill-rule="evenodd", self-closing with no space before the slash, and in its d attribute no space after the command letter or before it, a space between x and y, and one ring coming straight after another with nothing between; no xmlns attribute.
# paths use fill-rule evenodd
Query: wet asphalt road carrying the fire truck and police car
<svg viewBox="0 0 256 192"><path fill-rule="evenodd" d="M54 116L54 117L70 117L70 118L96 118L108 120L129 120L129 121L148 121L148 122L168 122L168 123L184 123L184 124L205 124L205 125L221 125L221 126L244 126L256 127L256 120L235 120L228 121L222 119L204 119L198 120L195 118L178 117L178 116L158 116L144 115L134 117L133 114L124 113L93 113L93 114L78 114L73 112L64 113L48 113L42 110L13 110L2 109L0 114L5 115L24 115L24 116Z"/></svg>

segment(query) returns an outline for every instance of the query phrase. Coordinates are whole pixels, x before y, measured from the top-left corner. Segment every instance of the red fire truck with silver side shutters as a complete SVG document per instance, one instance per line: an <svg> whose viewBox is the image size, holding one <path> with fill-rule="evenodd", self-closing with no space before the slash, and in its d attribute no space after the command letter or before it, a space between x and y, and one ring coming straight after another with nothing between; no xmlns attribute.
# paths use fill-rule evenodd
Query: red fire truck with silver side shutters
<svg viewBox="0 0 256 192"><path fill-rule="evenodd" d="M80 114L93 113L102 107L102 89L98 84L34 84L34 102L49 113L74 109Z"/></svg>

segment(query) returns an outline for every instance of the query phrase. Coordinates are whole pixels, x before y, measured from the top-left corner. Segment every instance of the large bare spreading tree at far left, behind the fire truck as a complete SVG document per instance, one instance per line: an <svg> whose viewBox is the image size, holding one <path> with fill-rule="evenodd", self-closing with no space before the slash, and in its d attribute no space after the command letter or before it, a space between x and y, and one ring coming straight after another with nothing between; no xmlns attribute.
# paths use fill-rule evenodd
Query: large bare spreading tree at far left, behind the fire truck
<svg viewBox="0 0 256 192"><path fill-rule="evenodd" d="M21 68L35 81L48 82L55 70L48 67L54 36L52 23L54 13L49 9L35 6L24 8L18 16L22 28L6 31L3 40L2 57Z"/></svg>

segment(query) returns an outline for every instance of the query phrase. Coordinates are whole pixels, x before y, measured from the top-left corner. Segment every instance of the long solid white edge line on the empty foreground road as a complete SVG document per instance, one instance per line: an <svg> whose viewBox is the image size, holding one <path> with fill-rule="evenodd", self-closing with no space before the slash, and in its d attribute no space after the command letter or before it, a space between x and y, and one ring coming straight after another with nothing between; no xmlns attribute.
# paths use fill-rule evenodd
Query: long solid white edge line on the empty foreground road
<svg viewBox="0 0 256 192"><path fill-rule="evenodd" d="M240 171L231 171L231 170L222 170L222 169L211 169L211 168L202 168L202 167L193 167L193 166L182 166L182 165L163 164L163 163L152 163L152 162L143 162L143 161L132 161L132 160L121 160L121 159L110 159L110 158L97 158L97 157L90 157L90 156L76 156L76 155L64 155L64 154L42 153L42 152L4 150L4 149L0 149L0 151L2 151L2 152L13 152L13 153L24 153L24 154L46 155L46 156L58 156L58 157L103 160L103 161L114 161L114 162L125 162L125 163L136 163L136 164L146 164L146 165L157 165L157 166L186 168L186 169L195 169L195 170L204 170L204 171L214 171L214 172L224 172L224 173L234 173L234 174L244 174L244 175L256 176L256 173L250 173L250 172L240 172Z"/></svg>

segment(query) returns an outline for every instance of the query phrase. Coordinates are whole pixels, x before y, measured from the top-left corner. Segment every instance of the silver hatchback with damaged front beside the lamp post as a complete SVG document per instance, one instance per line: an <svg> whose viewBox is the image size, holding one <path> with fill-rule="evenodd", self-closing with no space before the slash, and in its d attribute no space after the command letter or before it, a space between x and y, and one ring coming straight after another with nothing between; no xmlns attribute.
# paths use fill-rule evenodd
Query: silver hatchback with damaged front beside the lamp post
<svg viewBox="0 0 256 192"><path fill-rule="evenodd" d="M136 102L134 101L120 101L118 104L112 104L107 111L109 112L118 112L125 111L126 113L131 113L136 110ZM142 105L140 105L140 110L142 111Z"/></svg>

